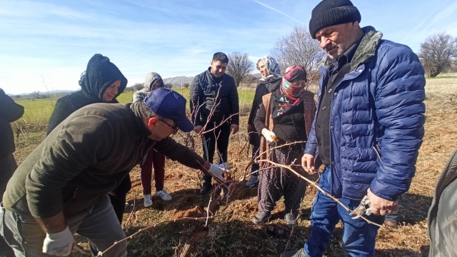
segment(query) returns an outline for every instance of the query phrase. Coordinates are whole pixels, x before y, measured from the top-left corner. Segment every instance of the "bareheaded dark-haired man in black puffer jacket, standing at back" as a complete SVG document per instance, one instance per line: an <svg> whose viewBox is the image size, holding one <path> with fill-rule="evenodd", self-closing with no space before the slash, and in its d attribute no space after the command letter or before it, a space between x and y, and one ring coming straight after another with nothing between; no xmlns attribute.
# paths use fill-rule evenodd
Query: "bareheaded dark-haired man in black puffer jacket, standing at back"
<svg viewBox="0 0 457 257"><path fill-rule="evenodd" d="M230 131L238 132L239 105L235 80L225 74L229 58L217 52L211 66L195 76L191 84L191 107L194 131L201 135L204 158L213 163L217 144L217 163L227 161ZM204 176L200 193L211 190L211 176Z"/></svg>

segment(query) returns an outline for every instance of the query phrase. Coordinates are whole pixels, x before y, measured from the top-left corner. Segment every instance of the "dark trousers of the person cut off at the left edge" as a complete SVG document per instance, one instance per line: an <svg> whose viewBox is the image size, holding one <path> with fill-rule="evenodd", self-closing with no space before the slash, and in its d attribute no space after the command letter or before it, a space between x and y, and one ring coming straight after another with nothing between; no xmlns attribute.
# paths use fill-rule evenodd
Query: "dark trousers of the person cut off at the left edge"
<svg viewBox="0 0 457 257"><path fill-rule="evenodd" d="M8 156L0 158L0 202L3 199L3 194L6 190L6 184L9 181L9 178L13 176L14 171L16 171L17 164L14 159L13 153L10 153ZM0 236L0 256L14 256L13 249L5 242L4 238Z"/></svg>

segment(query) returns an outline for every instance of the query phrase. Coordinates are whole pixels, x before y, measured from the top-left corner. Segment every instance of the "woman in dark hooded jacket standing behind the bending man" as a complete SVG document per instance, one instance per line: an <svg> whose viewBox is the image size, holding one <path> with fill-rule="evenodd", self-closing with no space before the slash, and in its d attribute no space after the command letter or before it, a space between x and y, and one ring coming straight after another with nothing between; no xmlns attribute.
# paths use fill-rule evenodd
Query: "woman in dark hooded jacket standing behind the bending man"
<svg viewBox="0 0 457 257"><path fill-rule="evenodd" d="M46 136L66 117L84 106L96 103L119 103L116 97L126 88L127 79L116 65L109 61L108 57L95 54L89 60L86 71L81 74L79 86L81 86L81 90L57 100L54 112L49 119ZM130 177L126 176L118 188L110 193L111 204L120 223L122 223L122 216L126 207L126 193L130 189Z"/></svg>

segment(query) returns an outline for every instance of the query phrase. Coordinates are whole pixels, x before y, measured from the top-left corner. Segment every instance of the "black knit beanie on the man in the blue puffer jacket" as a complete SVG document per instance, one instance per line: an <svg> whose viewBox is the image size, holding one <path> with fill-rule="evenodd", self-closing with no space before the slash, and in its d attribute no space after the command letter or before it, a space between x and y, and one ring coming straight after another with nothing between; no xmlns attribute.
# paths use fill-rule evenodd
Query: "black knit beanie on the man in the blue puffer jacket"
<svg viewBox="0 0 457 257"><path fill-rule="evenodd" d="M316 39L316 33L328 26L361 21L360 12L349 0L323 0L311 13L309 33Z"/></svg>

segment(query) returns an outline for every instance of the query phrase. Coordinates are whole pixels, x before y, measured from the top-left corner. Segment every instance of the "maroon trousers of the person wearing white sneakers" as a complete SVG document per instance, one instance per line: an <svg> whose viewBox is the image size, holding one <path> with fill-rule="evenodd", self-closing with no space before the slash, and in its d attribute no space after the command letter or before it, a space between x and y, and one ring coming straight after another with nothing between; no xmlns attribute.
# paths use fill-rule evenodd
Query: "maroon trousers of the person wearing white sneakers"
<svg viewBox="0 0 457 257"><path fill-rule="evenodd" d="M141 186L143 186L144 195L151 194L152 166L154 166L156 192L164 190L165 156L151 149L146 157L146 161L141 165Z"/></svg>

